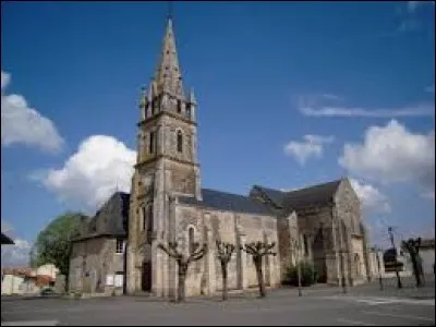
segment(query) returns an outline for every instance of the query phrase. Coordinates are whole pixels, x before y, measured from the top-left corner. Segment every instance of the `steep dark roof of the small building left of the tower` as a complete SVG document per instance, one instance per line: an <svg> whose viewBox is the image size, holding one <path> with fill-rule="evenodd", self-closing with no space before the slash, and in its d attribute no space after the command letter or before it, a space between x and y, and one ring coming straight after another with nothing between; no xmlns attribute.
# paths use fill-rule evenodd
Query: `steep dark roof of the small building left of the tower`
<svg viewBox="0 0 436 327"><path fill-rule="evenodd" d="M130 194L116 192L83 227L74 241L97 237L126 237Z"/></svg>

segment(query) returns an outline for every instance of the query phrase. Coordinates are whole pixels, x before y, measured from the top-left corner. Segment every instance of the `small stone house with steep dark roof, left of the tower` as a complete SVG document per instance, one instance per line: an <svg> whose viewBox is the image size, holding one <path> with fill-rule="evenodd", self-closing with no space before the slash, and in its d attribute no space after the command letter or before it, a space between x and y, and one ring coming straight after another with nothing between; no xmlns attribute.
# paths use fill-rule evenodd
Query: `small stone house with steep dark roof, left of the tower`
<svg viewBox="0 0 436 327"><path fill-rule="evenodd" d="M129 194L117 192L85 221L73 240L69 290L81 293L124 292Z"/></svg>

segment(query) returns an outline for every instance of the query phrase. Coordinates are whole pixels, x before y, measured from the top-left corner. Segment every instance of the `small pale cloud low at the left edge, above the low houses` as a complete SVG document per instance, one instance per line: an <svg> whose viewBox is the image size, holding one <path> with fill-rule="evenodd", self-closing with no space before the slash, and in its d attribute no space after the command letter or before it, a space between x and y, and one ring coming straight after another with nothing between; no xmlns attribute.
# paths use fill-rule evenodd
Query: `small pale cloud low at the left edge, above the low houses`
<svg viewBox="0 0 436 327"><path fill-rule="evenodd" d="M31 243L26 240L16 238L13 228L1 221L1 232L10 237L15 244L1 246L1 265L2 266L26 266L28 265Z"/></svg>

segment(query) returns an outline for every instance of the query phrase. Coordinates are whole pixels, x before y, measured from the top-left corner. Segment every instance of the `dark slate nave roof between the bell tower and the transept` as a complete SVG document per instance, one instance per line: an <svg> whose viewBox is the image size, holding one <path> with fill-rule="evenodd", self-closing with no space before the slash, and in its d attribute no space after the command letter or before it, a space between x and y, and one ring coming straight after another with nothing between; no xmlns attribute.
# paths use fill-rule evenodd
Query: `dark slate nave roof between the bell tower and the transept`
<svg viewBox="0 0 436 327"><path fill-rule="evenodd" d="M244 195L231 194L210 189L202 189L202 195L203 201L197 201L195 197L183 196L179 197L179 202L218 210L271 216L271 211L266 205Z"/></svg>

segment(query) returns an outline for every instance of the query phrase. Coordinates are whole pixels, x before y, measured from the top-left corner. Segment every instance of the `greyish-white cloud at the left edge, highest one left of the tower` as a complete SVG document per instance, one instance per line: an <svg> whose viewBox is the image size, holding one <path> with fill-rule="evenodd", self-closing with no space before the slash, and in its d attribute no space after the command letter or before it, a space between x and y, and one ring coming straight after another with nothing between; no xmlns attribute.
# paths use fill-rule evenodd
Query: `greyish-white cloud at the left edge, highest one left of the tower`
<svg viewBox="0 0 436 327"><path fill-rule="evenodd" d="M7 95L9 73L1 71L1 144L26 144L48 152L59 152L63 140L55 124L38 111L29 108L22 95Z"/></svg>

